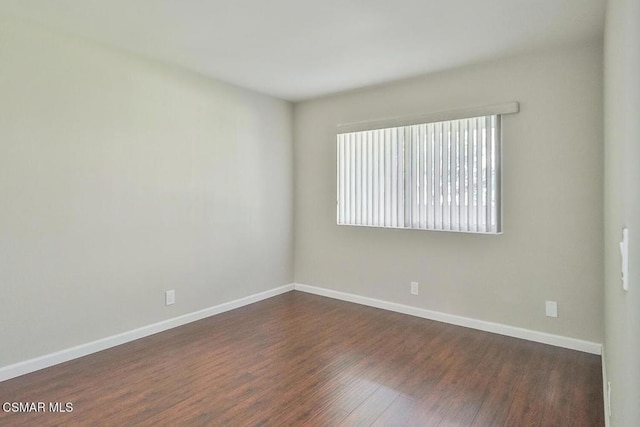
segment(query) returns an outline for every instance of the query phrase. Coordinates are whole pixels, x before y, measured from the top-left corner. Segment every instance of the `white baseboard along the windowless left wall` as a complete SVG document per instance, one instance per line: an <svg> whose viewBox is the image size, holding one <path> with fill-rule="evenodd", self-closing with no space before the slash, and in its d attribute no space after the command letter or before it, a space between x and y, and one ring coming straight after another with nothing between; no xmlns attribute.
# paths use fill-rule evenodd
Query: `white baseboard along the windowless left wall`
<svg viewBox="0 0 640 427"><path fill-rule="evenodd" d="M249 305L254 302L258 302L267 298L271 298L273 296L292 291L293 289L294 289L293 284L280 286L278 288L274 288L268 291L249 295L244 298L240 298L234 301L229 301L223 304L215 305L213 307L205 308L203 310L195 311L193 313L184 314L182 316L174 317L172 319L163 320L161 322L143 326L141 328L133 329L131 331L123 332L121 334L112 335L110 337L102 338L86 344L81 344L76 347L68 348L65 350L60 350L55 353L46 354L44 356L36 357L34 359L25 360L24 362L15 363L13 365L0 367L0 381L5 381L11 378L18 377L20 375L24 375L24 374L38 371L40 369L48 368L50 366L57 365L59 363L77 359L82 356L87 356L89 354L106 350L108 348L115 347L120 344L124 344L140 338L144 338L146 336L153 335L158 332L166 331L167 329L172 329L178 326L185 325L187 323L195 322L196 320L201 320L201 319L204 319L205 317L210 317L216 314L224 313L225 311L233 310L235 308Z"/></svg>

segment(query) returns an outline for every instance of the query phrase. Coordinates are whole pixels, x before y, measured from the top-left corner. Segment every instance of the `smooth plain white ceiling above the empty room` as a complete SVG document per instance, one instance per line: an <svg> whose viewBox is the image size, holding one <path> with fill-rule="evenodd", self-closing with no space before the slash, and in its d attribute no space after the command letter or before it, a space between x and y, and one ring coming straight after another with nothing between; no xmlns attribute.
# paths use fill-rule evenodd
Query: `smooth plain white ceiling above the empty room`
<svg viewBox="0 0 640 427"><path fill-rule="evenodd" d="M600 37L606 0L1 0L0 11L298 101Z"/></svg>

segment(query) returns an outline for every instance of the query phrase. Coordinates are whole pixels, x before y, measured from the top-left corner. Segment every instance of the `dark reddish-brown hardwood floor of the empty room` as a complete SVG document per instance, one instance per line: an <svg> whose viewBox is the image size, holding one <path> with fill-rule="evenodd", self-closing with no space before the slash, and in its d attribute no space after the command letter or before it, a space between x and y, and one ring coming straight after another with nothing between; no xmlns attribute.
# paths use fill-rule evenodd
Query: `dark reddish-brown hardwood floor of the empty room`
<svg viewBox="0 0 640 427"><path fill-rule="evenodd" d="M600 357L289 292L0 383L0 425L602 426Z"/></svg>

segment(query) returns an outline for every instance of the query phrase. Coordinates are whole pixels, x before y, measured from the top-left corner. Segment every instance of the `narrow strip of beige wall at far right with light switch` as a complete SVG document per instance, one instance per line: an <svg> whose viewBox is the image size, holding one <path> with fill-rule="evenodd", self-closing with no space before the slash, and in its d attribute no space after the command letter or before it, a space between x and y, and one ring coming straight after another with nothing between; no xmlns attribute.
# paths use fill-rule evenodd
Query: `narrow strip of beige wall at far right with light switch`
<svg viewBox="0 0 640 427"><path fill-rule="evenodd" d="M605 34L605 362L611 425L640 425L640 0L609 0ZM629 228L629 291L618 242Z"/></svg>

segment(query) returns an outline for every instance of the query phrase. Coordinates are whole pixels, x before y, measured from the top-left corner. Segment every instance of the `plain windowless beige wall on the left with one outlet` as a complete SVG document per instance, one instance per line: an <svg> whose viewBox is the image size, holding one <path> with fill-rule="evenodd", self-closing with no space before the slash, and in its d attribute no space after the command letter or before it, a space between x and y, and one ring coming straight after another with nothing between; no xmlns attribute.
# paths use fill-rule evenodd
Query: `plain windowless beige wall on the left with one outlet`
<svg viewBox="0 0 640 427"><path fill-rule="evenodd" d="M289 103L0 24L0 367L293 281Z"/></svg>

